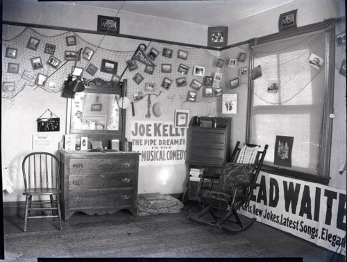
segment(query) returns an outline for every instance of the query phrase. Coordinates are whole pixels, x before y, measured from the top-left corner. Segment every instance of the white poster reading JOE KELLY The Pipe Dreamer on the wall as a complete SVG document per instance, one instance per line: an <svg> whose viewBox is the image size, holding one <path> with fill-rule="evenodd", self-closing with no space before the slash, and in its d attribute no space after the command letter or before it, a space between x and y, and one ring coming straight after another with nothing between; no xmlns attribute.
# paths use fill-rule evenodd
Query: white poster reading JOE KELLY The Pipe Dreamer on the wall
<svg viewBox="0 0 347 262"><path fill-rule="evenodd" d="M133 151L139 151L139 166L185 164L187 129L174 122L130 121Z"/></svg>

